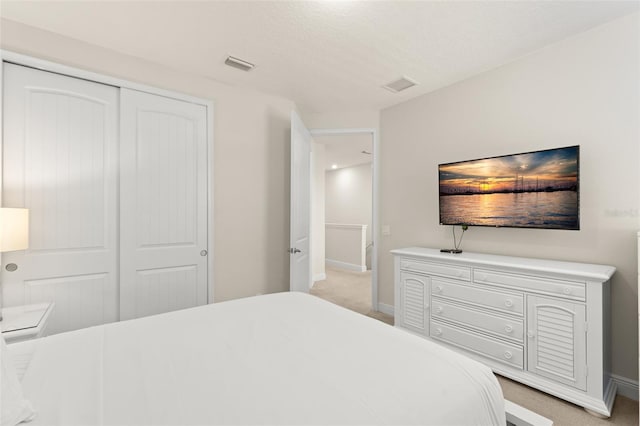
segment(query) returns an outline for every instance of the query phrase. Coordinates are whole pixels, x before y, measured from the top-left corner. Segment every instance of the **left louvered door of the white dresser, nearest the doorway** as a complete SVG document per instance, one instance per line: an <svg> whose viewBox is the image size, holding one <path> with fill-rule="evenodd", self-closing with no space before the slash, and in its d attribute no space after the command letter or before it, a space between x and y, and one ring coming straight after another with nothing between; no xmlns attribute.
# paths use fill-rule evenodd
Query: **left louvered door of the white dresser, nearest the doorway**
<svg viewBox="0 0 640 426"><path fill-rule="evenodd" d="M428 334L429 278L402 272L400 274L400 322L409 330Z"/></svg>

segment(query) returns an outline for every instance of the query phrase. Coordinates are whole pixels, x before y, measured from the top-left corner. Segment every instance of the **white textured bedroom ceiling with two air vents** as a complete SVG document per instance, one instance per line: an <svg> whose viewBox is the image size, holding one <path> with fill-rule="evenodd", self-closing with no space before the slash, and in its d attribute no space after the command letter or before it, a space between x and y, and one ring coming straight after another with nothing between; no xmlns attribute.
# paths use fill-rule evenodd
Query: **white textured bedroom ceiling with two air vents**
<svg viewBox="0 0 640 426"><path fill-rule="evenodd" d="M293 100L381 109L638 11L637 1L6 1L3 18ZM223 65L233 55L257 66ZM419 83L394 94L381 86Z"/></svg>

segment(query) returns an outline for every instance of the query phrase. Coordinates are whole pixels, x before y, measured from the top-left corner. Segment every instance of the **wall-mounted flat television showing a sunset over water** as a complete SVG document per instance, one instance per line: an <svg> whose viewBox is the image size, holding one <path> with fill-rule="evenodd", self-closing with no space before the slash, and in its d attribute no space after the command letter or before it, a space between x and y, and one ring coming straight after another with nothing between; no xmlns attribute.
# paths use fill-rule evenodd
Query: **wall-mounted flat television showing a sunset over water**
<svg viewBox="0 0 640 426"><path fill-rule="evenodd" d="M580 147L438 165L440 224L580 229Z"/></svg>

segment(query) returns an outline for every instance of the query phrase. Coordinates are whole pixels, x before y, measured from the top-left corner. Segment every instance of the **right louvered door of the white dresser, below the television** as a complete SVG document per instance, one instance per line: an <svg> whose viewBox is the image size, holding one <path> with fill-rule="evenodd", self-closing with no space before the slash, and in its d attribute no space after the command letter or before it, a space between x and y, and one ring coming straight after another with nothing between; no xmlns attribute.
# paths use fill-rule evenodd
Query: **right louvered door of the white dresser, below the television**
<svg viewBox="0 0 640 426"><path fill-rule="evenodd" d="M528 296L528 370L586 390L585 306Z"/></svg>

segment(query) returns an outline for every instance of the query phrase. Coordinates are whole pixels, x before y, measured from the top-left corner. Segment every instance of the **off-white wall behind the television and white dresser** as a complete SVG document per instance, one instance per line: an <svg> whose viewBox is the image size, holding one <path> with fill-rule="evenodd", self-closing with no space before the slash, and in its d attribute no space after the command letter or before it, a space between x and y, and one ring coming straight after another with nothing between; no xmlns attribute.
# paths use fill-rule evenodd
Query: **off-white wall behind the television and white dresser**
<svg viewBox="0 0 640 426"><path fill-rule="evenodd" d="M638 377L640 30L631 15L381 113L380 301L389 250L450 247L438 224L438 163L579 144L581 230L465 234L468 251L603 263L612 280L613 373Z"/></svg>

